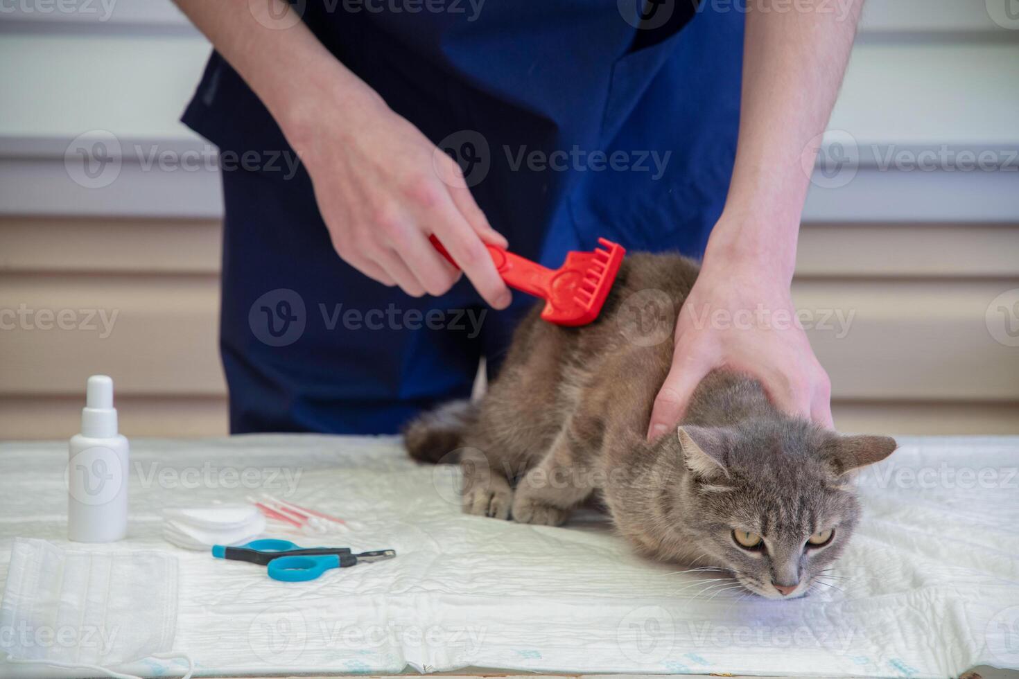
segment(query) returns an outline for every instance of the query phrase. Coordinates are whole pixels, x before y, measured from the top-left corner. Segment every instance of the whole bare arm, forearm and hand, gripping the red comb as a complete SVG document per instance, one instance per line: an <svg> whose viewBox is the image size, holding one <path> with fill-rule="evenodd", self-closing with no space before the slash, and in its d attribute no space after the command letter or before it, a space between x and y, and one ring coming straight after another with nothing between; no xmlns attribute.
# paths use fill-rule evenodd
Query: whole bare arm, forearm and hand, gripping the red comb
<svg viewBox="0 0 1019 679"><path fill-rule="evenodd" d="M174 1L279 123L340 258L408 294L442 294L460 273L428 242L434 233L485 301L509 304L485 248L506 241L460 167L330 54L285 0Z"/></svg>

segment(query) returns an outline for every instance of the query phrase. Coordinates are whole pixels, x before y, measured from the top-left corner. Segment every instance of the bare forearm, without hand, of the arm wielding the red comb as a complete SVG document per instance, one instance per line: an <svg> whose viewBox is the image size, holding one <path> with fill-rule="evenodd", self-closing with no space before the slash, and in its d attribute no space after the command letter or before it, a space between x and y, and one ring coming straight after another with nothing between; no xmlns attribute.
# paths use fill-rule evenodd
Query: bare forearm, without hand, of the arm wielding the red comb
<svg viewBox="0 0 1019 679"><path fill-rule="evenodd" d="M240 74L283 127L296 151L320 104L332 96L337 106L371 106L381 100L344 67L292 14L283 0L174 0L192 22ZM256 15L256 12L264 12ZM289 13L289 14L288 14Z"/></svg>

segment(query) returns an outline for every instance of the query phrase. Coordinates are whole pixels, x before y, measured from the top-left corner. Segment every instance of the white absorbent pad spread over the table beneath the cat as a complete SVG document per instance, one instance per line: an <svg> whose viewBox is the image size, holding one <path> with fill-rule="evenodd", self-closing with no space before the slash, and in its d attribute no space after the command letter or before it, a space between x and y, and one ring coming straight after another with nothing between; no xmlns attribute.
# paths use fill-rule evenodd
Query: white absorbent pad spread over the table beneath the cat
<svg viewBox="0 0 1019 679"><path fill-rule="evenodd" d="M455 467L418 466L392 438L135 441L128 540L116 549L178 557L173 650L191 655L196 676L411 666L944 677L1019 667L1019 438L900 442L860 478L865 514L837 587L792 602L633 556L593 514L565 527L466 516ZM16 535L66 546L65 465L59 443L0 445L0 577ZM363 529L330 537L336 546L398 556L276 582L264 567L160 536L164 508L261 492L359 520Z"/></svg>

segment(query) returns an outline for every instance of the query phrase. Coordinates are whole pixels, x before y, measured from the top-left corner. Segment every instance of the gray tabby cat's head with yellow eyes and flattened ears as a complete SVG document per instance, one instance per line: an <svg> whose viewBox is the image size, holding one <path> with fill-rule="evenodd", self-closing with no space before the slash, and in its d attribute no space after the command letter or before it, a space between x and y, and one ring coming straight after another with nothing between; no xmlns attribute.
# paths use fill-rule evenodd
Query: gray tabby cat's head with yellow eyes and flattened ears
<svg viewBox="0 0 1019 679"><path fill-rule="evenodd" d="M673 438L673 437L669 437ZM840 436L796 419L681 427L688 473L678 489L697 551L768 599L807 593L845 550L859 516L854 469L896 449L883 436Z"/></svg>

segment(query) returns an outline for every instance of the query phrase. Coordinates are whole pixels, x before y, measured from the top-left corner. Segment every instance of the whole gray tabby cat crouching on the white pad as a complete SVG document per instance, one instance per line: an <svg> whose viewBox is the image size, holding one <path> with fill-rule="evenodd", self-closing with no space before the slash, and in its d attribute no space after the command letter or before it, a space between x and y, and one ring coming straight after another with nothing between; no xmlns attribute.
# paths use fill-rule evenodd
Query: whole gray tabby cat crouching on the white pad
<svg viewBox="0 0 1019 679"><path fill-rule="evenodd" d="M541 321L539 305L485 397L420 416L406 444L419 460L459 460L466 512L558 525L595 500L642 554L725 569L762 597L800 597L856 526L850 472L896 442L791 417L755 380L716 371L678 433L647 443L673 341L641 329L672 327L697 271L685 258L629 256L582 328Z"/></svg>

